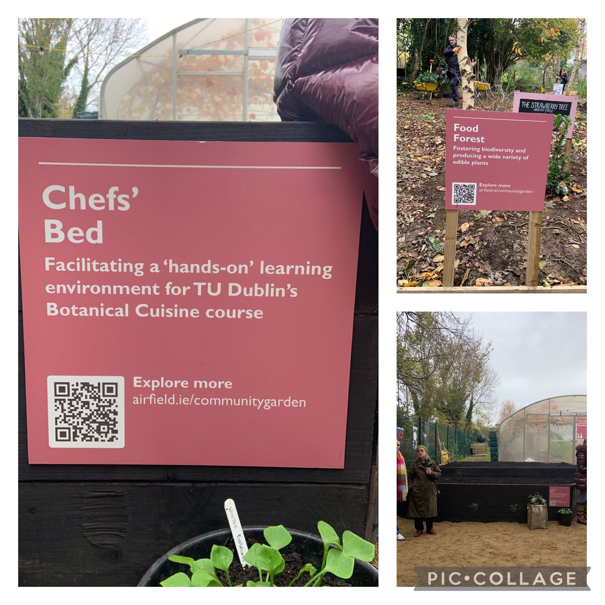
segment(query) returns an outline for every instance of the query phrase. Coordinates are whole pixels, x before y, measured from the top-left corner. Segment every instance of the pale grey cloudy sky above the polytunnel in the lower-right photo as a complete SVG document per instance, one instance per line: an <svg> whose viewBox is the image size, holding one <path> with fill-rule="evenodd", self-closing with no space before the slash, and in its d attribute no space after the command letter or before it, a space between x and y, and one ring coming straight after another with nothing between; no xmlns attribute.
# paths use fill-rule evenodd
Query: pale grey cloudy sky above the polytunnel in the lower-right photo
<svg viewBox="0 0 605 605"><path fill-rule="evenodd" d="M547 397L586 394L586 313L455 315L472 316L484 342L492 342L491 365L502 380L496 410L506 399L518 409Z"/></svg>

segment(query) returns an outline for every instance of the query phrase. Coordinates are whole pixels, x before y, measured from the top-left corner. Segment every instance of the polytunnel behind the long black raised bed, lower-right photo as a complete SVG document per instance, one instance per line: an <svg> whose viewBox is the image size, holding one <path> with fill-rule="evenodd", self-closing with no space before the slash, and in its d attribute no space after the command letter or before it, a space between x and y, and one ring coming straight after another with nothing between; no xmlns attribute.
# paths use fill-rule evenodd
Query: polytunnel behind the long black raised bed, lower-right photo
<svg viewBox="0 0 605 605"><path fill-rule="evenodd" d="M504 419L498 430L498 460L569 462L586 438L586 395L542 399Z"/></svg>

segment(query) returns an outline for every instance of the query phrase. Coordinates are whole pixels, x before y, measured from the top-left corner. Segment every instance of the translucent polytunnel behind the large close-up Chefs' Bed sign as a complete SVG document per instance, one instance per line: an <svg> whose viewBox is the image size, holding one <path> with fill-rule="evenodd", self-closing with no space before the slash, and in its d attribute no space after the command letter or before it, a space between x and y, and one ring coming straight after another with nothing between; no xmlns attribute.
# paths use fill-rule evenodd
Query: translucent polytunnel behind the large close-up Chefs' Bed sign
<svg viewBox="0 0 605 605"><path fill-rule="evenodd" d="M278 121L273 103L281 19L194 19L117 65L100 119Z"/></svg>

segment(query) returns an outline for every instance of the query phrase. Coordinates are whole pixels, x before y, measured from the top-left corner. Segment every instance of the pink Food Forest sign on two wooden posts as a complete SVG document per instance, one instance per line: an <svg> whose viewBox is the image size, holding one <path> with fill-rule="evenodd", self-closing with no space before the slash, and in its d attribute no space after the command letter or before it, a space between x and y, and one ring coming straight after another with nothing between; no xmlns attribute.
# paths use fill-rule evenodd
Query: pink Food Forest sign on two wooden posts
<svg viewBox="0 0 605 605"><path fill-rule="evenodd" d="M445 208L542 211L552 119L446 110Z"/></svg>

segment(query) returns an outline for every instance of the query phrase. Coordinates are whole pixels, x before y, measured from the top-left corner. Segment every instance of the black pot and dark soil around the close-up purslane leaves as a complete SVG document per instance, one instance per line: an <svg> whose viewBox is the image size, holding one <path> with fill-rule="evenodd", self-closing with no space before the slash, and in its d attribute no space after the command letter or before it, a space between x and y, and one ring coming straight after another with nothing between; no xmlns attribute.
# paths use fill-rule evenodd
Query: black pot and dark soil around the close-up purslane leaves
<svg viewBox="0 0 605 605"><path fill-rule="evenodd" d="M266 543L262 527L245 527L244 534L247 538ZM324 544L316 535L307 534L307 532L288 529L292 535L292 541L289 545L281 549L282 554L298 552L305 563L312 563L317 569L321 567L321 561L324 554ZM166 580L172 574L180 571L187 571L183 564L169 561L170 555L183 555L194 559L209 558L213 544L223 545L231 537L231 530L220 529L209 532L208 534L198 535L191 540L175 546L172 550L162 555L141 578L138 586L160 586L160 582ZM248 543L250 546L250 542ZM237 554L234 555L237 560ZM351 586L378 586L378 571L365 561L355 561L353 575L346 580Z"/></svg>

